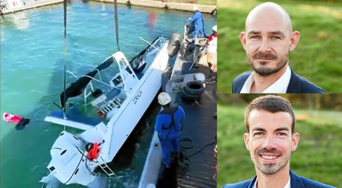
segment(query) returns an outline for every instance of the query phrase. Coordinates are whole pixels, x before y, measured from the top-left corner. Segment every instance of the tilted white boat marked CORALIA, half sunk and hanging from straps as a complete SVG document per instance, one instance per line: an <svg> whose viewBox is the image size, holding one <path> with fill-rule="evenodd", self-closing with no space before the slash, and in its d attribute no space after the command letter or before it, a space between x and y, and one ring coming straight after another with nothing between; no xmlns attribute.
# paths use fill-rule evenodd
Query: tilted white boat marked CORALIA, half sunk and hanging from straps
<svg viewBox="0 0 342 188"><path fill-rule="evenodd" d="M149 45L130 62L123 53L114 53L62 92L61 108L67 106L67 98L83 93L85 105L93 107L109 122L105 124L102 119L77 113L64 114L62 110L55 110L46 117L47 122L84 130L78 135L62 131L56 139L47 167L50 174L40 180L47 183L47 187L57 187L60 182L101 187L103 176L95 169L101 169L108 176L115 175L107 163L114 159L158 93L162 74L168 68L168 41L158 37ZM110 68L117 72L105 82L106 77L101 73ZM109 72L113 75L113 71ZM97 74L99 78L95 78ZM95 83L101 90L94 89ZM99 153L95 160L90 160L86 145L94 142L99 143Z"/></svg>

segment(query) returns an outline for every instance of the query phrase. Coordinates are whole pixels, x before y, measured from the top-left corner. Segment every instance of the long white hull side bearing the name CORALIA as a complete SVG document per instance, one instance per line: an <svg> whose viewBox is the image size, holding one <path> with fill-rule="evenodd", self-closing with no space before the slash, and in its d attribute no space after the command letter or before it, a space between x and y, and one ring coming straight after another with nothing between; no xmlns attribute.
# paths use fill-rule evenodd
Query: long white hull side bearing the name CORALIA
<svg viewBox="0 0 342 188"><path fill-rule="evenodd" d="M133 95L123 102L120 110L107 124L105 140L110 140L110 142L104 143L100 154L107 163L114 159L161 88L162 74L168 67L167 46L168 41L140 79L139 85L132 90Z"/></svg>

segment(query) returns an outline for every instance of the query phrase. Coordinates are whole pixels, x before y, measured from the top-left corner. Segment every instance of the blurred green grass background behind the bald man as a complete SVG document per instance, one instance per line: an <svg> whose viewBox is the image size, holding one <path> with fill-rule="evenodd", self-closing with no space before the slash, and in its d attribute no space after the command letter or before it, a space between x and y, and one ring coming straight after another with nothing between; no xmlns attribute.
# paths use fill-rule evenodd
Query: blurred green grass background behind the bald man
<svg viewBox="0 0 342 188"><path fill-rule="evenodd" d="M245 19L267 1L218 0L218 92L231 93L234 78L252 70L239 40ZM289 65L297 74L328 93L342 93L342 1L272 1L290 15L293 30L301 33Z"/></svg>

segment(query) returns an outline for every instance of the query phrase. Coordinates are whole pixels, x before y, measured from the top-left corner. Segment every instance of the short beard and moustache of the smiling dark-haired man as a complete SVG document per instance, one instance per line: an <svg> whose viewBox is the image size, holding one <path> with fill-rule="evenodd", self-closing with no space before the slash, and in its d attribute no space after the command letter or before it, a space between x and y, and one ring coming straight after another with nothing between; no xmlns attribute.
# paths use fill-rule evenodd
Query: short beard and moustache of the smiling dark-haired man
<svg viewBox="0 0 342 188"><path fill-rule="evenodd" d="M282 157L283 159L280 159L280 161L278 161L277 163L263 164L264 162L262 162L259 157L259 155L262 153L280 155L278 158ZM252 157L252 161L255 167L257 167L261 173L266 174L266 175L272 175L272 174L277 173L278 171L280 171L287 165L287 163L290 161L291 153L289 155L284 156L284 153L280 150L272 149L269 151L268 149L262 148L262 149L258 149L255 152L254 156L251 156L251 157Z"/></svg>

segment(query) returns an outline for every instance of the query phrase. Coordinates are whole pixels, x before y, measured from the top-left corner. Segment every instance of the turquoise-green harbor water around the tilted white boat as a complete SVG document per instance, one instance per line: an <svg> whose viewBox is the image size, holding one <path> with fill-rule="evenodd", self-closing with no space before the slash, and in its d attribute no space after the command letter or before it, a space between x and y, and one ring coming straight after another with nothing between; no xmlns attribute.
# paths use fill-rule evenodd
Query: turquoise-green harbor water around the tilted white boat
<svg viewBox="0 0 342 188"><path fill-rule="evenodd" d="M183 33L191 12L118 6L120 50L130 59L158 35ZM149 20L153 20L152 25ZM216 16L203 15L210 34ZM1 114L30 118L21 131L1 120L2 188L41 187L49 174L50 148L64 130L44 122L63 90L63 5L52 5L1 18ZM67 69L82 75L117 51L112 4L73 2L67 15ZM73 81L68 75L68 83ZM151 109L151 113L158 109ZM117 172L109 187L137 187L153 133L153 119L138 141L132 164ZM79 133L66 128L71 133ZM60 187L83 187L61 185Z"/></svg>

